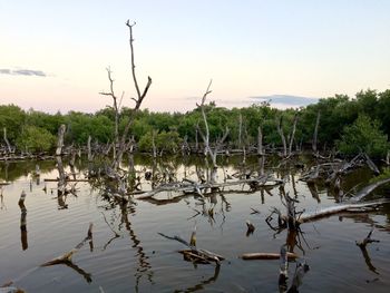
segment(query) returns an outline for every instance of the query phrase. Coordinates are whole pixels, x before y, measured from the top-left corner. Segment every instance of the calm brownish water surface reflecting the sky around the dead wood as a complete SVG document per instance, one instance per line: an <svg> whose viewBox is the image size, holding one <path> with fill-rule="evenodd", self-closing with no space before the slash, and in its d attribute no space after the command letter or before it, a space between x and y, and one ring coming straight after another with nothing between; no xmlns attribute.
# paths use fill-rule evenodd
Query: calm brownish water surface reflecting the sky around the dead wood
<svg viewBox="0 0 390 293"><path fill-rule="evenodd" d="M231 158L221 165L232 175L243 168L241 160ZM310 165L309 160L302 162ZM195 179L195 163L177 160L169 165L178 179L184 174ZM0 182L11 183L1 191L0 285L13 281L27 292L279 292L279 261L238 258L243 253L279 252L286 242L286 231L275 234L265 223L271 207L283 209L279 187L251 193L247 186L233 186L206 198L204 204L194 196L165 205L135 199L121 209L104 201L88 183L77 184L77 197L70 194L59 201L56 191L51 193L57 184L43 182L58 176L55 162L37 164L42 170L39 184L31 179L35 162L0 165ZM149 164L143 157L136 158L137 170L149 169ZM266 170L277 164L267 162ZM247 159L246 166L259 169L257 158ZM218 176L223 180L222 170ZM300 208L315 209L335 203L324 185L309 188L299 182L300 170L286 166L283 174L275 176L287 176L285 191L298 195ZM367 169L354 172L343 187L349 191L359 182L363 186L370 176ZM143 182L143 188L150 189L150 184ZM27 193L27 233L20 228L18 201L22 189ZM389 197L389 191L378 189L371 198ZM251 208L261 214L251 214ZM256 227L250 236L245 235L247 219ZM72 266L40 266L75 247L86 237L89 223L94 223L94 247L82 246L74 255ZM185 247L157 234L188 240L194 225L197 246L226 257L221 267L184 261L177 251ZM373 238L380 243L369 244L364 257L354 242L363 240L372 226ZM337 215L301 227L303 235L294 251L308 262L310 272L300 292L388 292L389 205L373 213ZM290 263L290 282L294 268L295 263Z"/></svg>

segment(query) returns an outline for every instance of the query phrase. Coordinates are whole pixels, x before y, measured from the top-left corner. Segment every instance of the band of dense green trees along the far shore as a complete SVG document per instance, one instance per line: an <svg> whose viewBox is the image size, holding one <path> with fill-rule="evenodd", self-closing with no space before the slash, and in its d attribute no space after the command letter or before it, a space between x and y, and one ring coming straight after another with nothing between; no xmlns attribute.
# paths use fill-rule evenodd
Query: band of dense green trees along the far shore
<svg viewBox="0 0 390 293"><path fill-rule="evenodd" d="M269 102L233 109L217 107L213 101L206 105L211 143L223 136L227 127L230 134L225 144L231 149L256 147L259 127L264 145L280 147L282 140L277 124L282 121L289 140L295 115L294 148L311 148L319 114L320 150L334 148L344 155L365 152L376 157L387 154L390 135L389 89L382 92L370 89L360 91L353 99L335 95L300 109L280 110L271 108ZM120 110L119 133L130 115L129 108ZM198 108L185 114L144 109L136 115L130 136L139 152L152 152L154 145L158 153L175 153L184 145L202 144L199 131L204 131L205 125ZM109 106L95 114L69 111L66 115L33 109L25 111L14 105L0 106L0 127L7 129L7 139L17 152L51 152L61 124L67 126L67 145L85 146L89 136L98 144L114 140L115 111ZM2 148L6 147L4 138L0 139Z"/></svg>

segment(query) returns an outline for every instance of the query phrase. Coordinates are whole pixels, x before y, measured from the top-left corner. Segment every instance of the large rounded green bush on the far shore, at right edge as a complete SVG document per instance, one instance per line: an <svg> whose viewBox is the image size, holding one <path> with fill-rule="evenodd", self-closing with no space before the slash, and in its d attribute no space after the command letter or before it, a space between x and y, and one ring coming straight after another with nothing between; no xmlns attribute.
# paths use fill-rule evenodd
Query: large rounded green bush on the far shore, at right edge
<svg viewBox="0 0 390 293"><path fill-rule="evenodd" d="M343 129L343 135L337 141L339 150L344 155L354 155L360 152L369 156L383 156L388 148L388 136L380 129L380 124L365 115L360 115L358 119Z"/></svg>

